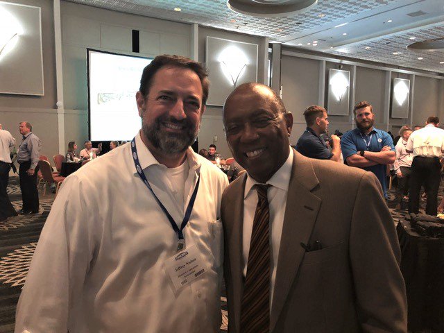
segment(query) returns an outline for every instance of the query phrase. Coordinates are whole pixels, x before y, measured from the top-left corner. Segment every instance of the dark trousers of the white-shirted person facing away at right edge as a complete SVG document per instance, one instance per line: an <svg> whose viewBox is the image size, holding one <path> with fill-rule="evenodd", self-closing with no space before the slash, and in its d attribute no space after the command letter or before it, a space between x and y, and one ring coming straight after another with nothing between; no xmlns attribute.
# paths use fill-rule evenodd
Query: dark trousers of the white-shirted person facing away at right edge
<svg viewBox="0 0 444 333"><path fill-rule="evenodd" d="M411 164L409 213L418 214L420 190L425 185L427 205L425 214L436 215L438 209L438 189L441 181L441 164L438 157L416 156Z"/></svg>

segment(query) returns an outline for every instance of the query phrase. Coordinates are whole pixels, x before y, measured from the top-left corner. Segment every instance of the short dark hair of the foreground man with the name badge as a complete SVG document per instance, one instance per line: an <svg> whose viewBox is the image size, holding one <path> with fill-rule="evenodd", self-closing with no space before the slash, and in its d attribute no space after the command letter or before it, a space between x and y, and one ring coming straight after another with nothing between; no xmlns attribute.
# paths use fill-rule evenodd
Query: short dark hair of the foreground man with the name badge
<svg viewBox="0 0 444 333"><path fill-rule="evenodd" d="M196 73L197 76L200 78L200 83L202 84L202 103L203 105L207 103L208 91L210 89L210 80L208 80L208 74L205 67L200 65L199 62L196 62L189 58L182 56L169 56L167 54L155 57L153 61L151 61L150 64L144 68L139 87L139 91L144 97L148 95L150 87L153 84L153 78L157 71L166 66L191 69L191 71L194 71L194 73Z"/></svg>

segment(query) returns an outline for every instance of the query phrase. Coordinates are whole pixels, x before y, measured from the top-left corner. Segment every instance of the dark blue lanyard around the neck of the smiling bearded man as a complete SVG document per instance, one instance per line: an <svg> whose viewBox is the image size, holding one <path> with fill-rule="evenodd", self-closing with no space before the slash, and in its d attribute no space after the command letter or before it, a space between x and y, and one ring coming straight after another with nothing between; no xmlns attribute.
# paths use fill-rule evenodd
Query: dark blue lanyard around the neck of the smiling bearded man
<svg viewBox="0 0 444 333"><path fill-rule="evenodd" d="M133 141L131 141L131 152L133 153L133 160L134 160L134 165L136 167L137 173L139 174L139 177L142 180L142 182L144 182L146 187L148 187L148 189L151 191L151 194L153 194L153 197L156 200L157 204L163 210L165 215L167 215L169 223L171 223L171 227L173 227L173 230L178 234L178 251L182 250L183 248L185 248L185 239L183 237L182 230L184 230L185 226L187 225L187 223L189 221L189 218L191 217L191 212L193 210L194 201L196 201L197 191L199 188L200 177L198 178L196 187L194 188L193 194L191 195L191 198L189 199L188 207L187 207L187 210L185 212L185 216L182 220L182 224L180 225L180 229L179 229L176 221L174 221L174 219L173 219L173 216L171 216L171 214L169 214L167 208L160 202L159 198L157 198L157 196L155 195L155 193L153 191L153 188L151 187L150 183L146 179L144 171L142 170L142 167L140 166L139 157L137 155L137 148L136 148L136 140L135 139L136 138L134 138Z"/></svg>

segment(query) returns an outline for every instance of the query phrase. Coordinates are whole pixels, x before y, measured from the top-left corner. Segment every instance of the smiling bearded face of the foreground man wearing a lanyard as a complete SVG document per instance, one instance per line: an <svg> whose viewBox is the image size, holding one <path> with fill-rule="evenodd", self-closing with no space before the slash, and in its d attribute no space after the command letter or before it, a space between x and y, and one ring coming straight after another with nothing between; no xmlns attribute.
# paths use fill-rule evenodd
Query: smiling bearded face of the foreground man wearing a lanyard
<svg viewBox="0 0 444 333"><path fill-rule="evenodd" d="M148 96L137 92L142 137L152 153L177 155L194 142L205 106L200 79L191 69L162 67Z"/></svg>

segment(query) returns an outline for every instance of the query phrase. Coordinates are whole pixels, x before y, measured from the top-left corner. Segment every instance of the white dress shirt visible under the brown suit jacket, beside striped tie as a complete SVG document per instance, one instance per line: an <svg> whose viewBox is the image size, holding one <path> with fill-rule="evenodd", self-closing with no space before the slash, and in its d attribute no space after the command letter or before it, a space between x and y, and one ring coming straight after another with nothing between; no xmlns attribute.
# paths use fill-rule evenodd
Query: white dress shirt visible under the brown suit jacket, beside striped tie
<svg viewBox="0 0 444 333"><path fill-rule="evenodd" d="M278 257L282 226L284 225L285 207L287 207L287 194L293 166L293 149L290 148L289 157L282 167L271 177L266 184L271 185L267 191L268 207L270 208L270 234L271 234L271 286L270 300L273 302L273 291L276 280L276 268L278 268ZM242 232L242 250L244 257L244 277L246 277L248 266L248 253L250 252L251 233L253 232L253 219L257 206L257 191L253 186L259 184L256 180L247 176L244 193L244 225ZM270 304L271 304L270 302Z"/></svg>

